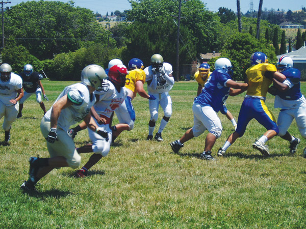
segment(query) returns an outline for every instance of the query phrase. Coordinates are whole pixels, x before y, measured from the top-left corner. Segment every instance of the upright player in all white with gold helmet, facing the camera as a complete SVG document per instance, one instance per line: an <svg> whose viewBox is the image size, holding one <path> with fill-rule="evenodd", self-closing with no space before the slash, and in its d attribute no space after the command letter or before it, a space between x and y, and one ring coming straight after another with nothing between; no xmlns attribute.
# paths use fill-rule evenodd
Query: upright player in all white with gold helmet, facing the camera
<svg viewBox="0 0 306 229"><path fill-rule="evenodd" d="M147 82L147 89L150 95L153 95L155 100L149 100L150 121L149 121L149 134L147 140L153 138L155 124L158 119L158 109L161 106L164 110L164 117L161 121L160 128L156 133L154 139L163 141L162 132L166 127L172 115L172 101L169 91L174 84L172 76L172 66L169 63L164 63L164 59L160 54L151 56L151 66L144 69Z"/></svg>

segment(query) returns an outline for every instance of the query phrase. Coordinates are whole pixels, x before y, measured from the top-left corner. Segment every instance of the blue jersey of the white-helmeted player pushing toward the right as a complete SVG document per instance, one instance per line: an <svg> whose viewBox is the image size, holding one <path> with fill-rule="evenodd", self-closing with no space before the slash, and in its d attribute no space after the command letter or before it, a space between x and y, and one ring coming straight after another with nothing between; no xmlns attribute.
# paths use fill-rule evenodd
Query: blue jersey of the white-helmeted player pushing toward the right
<svg viewBox="0 0 306 229"><path fill-rule="evenodd" d="M217 69L208 78L201 94L194 99L195 103L211 106L216 112L222 107L230 93L230 88L226 87L226 82L232 79L225 70Z"/></svg>

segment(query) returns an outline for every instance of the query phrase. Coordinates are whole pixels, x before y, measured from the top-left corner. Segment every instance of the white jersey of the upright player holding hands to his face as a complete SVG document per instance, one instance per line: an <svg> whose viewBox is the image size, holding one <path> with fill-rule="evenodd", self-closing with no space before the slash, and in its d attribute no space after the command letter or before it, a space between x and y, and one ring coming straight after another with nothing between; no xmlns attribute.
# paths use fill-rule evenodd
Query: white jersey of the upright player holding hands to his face
<svg viewBox="0 0 306 229"><path fill-rule="evenodd" d="M169 63L164 63L163 67L165 68L165 72L167 73L167 75L172 74L173 72L172 66ZM152 66L146 67L144 69L144 72L145 72L146 82L152 80L153 77L156 77L157 81L156 89L150 88L149 85L147 84L147 89L149 94L150 93L160 94L163 92L169 92L172 89L173 85L170 85L160 72L157 72L156 74L152 73Z"/></svg>

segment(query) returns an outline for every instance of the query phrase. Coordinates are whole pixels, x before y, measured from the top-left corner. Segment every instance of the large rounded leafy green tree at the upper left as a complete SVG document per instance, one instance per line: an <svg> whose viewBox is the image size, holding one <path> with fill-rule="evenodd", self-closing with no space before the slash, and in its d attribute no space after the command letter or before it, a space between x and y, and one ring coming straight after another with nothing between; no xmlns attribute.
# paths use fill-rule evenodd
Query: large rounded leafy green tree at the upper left
<svg viewBox="0 0 306 229"><path fill-rule="evenodd" d="M75 8L72 2L22 2L5 14L10 25L5 27L6 37L14 38L16 46L26 47L40 60L90 43L107 42L107 33L95 22L94 13Z"/></svg>

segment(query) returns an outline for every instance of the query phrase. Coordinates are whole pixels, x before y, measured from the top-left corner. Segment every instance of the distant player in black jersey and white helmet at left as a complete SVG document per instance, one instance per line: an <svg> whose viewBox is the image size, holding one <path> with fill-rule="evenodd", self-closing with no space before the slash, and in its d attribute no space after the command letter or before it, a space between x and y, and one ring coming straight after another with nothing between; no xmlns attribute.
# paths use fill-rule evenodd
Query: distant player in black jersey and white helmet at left
<svg viewBox="0 0 306 229"><path fill-rule="evenodd" d="M43 113L46 113L46 108L44 103L41 100L41 95L43 95L43 99L49 101L47 96L45 95L45 91L43 85L41 83L41 79L43 76L38 72L33 72L32 65L24 65L23 71L19 73L19 76L22 78L22 88L24 90L24 95L20 99L19 105L19 113L17 115L17 119L22 117L22 108L23 103L34 93L36 94L36 102L39 103Z"/></svg>

